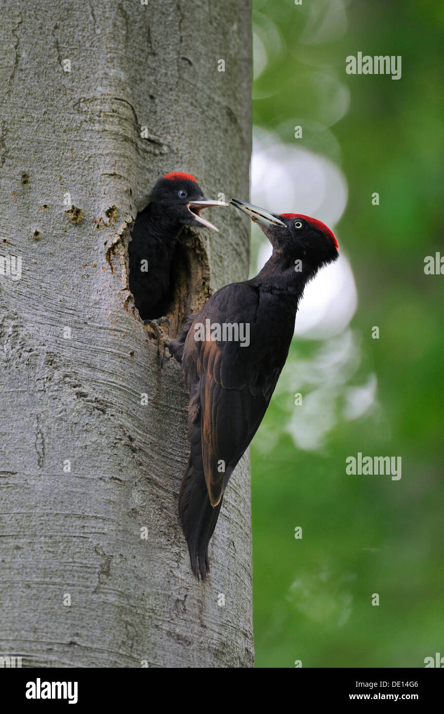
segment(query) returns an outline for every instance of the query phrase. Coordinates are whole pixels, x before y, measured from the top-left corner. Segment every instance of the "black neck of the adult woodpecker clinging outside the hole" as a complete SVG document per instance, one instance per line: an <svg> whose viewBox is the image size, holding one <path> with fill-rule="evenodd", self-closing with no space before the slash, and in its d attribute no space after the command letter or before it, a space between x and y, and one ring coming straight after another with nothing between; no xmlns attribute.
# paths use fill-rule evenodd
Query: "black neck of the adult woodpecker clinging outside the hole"
<svg viewBox="0 0 444 714"><path fill-rule="evenodd" d="M274 249L271 258L251 281L259 290L298 300L316 269L304 261L296 261L288 253Z"/></svg>

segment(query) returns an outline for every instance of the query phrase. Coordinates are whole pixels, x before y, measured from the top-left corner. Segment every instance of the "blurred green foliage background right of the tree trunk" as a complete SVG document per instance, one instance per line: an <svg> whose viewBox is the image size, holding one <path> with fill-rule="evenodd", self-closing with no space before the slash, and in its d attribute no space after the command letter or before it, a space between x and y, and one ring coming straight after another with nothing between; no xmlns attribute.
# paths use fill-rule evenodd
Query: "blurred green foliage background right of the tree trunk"
<svg viewBox="0 0 444 714"><path fill-rule="evenodd" d="M335 423L323 446L303 451L286 425L316 384L300 388L298 365L318 365L328 389L335 338L294 340L283 387L253 441L256 666L423 667L425 657L444 655L444 276L424 273L425 256L444 255L444 7L435 0L253 5L268 56L254 84L256 126L329 156L348 181L335 233L358 288L350 330L360 353L358 367L333 384ZM343 11L342 36L303 44L304 33ZM402 78L348 76L345 57L358 51L401 55ZM313 77L319 71L350 91L350 109L337 122ZM303 139L294 139L296 124ZM380 206L371 204L373 191ZM297 209L296 198L288 210ZM377 405L345 418L345 391L371 372ZM302 406L294 406L297 391ZM347 476L345 458L358 451L401 456L401 480Z"/></svg>

